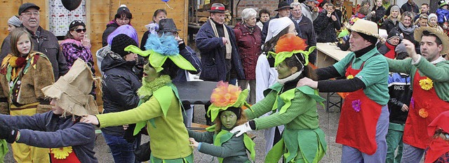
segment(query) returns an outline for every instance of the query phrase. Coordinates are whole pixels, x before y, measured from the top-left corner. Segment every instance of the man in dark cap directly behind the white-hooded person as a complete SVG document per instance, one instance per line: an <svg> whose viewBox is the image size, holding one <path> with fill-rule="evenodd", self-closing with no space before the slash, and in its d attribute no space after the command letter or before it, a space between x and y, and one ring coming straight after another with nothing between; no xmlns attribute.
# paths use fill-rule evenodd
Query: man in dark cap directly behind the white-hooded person
<svg viewBox="0 0 449 163"><path fill-rule="evenodd" d="M278 8L276 10L274 10L274 11L277 11L278 14L264 24L264 28L262 29L262 43L267 42L269 40L269 39L267 39L269 22L276 18L280 18L280 17L290 17L291 9L293 9L293 7L290 7L290 5L288 4L287 1L280 1L278 3ZM293 21L293 19L292 19L292 21ZM295 22L295 21L293 21L293 22L295 23L295 29L297 32L297 36L300 36L302 38L300 26L297 24L297 22Z"/></svg>

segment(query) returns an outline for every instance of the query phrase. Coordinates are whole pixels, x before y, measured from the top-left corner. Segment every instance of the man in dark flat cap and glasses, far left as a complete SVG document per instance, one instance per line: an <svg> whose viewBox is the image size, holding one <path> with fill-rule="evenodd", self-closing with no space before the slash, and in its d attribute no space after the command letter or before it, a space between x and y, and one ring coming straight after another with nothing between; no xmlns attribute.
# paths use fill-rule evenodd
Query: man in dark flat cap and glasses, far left
<svg viewBox="0 0 449 163"><path fill-rule="evenodd" d="M69 69L67 69L67 62L64 55L60 52L58 38L50 31L47 31L39 26L39 6L34 3L23 3L19 7L19 18L22 21L23 27L32 34L32 42L34 50L42 52L48 57L53 66L53 74L55 80L63 76ZM4 45L1 47L0 60L3 60L8 53L11 52L11 35L5 38Z"/></svg>

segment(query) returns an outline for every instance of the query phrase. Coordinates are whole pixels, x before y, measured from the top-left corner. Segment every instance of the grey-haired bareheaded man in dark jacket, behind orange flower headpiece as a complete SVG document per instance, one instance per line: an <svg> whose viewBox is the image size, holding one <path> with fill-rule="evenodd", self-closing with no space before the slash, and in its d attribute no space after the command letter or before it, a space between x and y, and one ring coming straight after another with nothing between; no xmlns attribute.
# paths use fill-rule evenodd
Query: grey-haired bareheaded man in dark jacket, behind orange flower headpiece
<svg viewBox="0 0 449 163"><path fill-rule="evenodd" d="M300 26L302 39L306 41L306 44L309 45L309 47L315 46L316 34L314 26L308 17L302 16L301 3L299 2L290 3L290 7L293 8L291 9L293 22L296 22ZM307 47L307 50L309 50L309 47ZM316 50L314 50L314 52L309 54L309 62L315 64Z"/></svg>

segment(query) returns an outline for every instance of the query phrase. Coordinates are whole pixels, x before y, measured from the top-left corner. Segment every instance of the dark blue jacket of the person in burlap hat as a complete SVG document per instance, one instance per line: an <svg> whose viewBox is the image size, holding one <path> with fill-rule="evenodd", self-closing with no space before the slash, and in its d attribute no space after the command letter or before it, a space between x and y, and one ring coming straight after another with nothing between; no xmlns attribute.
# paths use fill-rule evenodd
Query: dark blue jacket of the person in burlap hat
<svg viewBox="0 0 449 163"><path fill-rule="evenodd" d="M17 143L39 148L63 148L72 146L72 150L81 163L98 162L95 157L95 127L72 121L72 115L61 118L53 111L32 116L0 115L0 122L17 127L20 139Z"/></svg>

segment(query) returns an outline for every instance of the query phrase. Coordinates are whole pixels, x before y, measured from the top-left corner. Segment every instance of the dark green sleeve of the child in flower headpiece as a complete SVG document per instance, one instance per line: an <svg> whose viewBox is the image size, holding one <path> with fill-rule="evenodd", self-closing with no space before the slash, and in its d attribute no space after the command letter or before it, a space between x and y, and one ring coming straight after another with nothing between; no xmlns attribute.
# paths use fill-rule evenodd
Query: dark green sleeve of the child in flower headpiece
<svg viewBox="0 0 449 163"><path fill-rule="evenodd" d="M246 154L243 136L236 137L235 135L232 136L232 139L229 139L229 141L223 143L222 146L214 146L210 143L201 143L201 148L198 151L221 158Z"/></svg>

